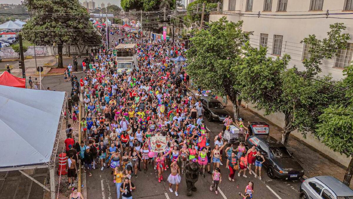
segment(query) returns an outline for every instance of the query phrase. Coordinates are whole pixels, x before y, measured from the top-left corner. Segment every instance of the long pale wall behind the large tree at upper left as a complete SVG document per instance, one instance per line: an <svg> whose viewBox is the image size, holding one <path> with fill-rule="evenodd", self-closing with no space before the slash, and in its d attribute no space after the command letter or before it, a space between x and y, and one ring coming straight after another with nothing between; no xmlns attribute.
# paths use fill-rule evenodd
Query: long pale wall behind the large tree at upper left
<svg viewBox="0 0 353 199"><path fill-rule="evenodd" d="M81 49L84 46L81 47ZM91 52L89 50L89 52ZM36 56L41 57L41 56L54 56L58 53L57 47L53 46L36 46ZM62 48L62 54L67 55L68 53L68 46L64 46ZM78 48L77 46L70 46L70 53L78 53ZM83 51L83 55L85 55L86 50ZM1 58L18 58L18 53L14 52L12 50L12 47L2 47L0 49L0 56ZM24 53L24 56L33 56L34 57L34 47L29 46L28 50Z"/></svg>

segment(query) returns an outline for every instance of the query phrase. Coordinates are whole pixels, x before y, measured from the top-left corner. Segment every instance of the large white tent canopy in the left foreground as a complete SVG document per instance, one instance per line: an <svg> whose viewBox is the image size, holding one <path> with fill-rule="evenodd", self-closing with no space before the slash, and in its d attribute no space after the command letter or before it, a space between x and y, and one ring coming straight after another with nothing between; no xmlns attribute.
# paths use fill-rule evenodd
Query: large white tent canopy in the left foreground
<svg viewBox="0 0 353 199"><path fill-rule="evenodd" d="M65 92L0 86L0 168L50 161Z"/></svg>

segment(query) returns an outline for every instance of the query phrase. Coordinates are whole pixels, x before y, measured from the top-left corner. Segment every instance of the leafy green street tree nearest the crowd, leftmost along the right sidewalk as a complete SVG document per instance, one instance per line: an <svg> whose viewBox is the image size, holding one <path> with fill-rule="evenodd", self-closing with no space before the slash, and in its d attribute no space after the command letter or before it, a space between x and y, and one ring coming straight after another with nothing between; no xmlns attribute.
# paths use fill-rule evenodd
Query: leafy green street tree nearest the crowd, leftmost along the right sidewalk
<svg viewBox="0 0 353 199"><path fill-rule="evenodd" d="M187 73L199 87L228 95L234 104L234 118L238 118L241 98L234 85L238 84L239 70L234 64L241 58L241 46L250 33L241 30L243 21L229 22L226 17L207 24L208 29L192 31L192 45L186 51Z"/></svg>

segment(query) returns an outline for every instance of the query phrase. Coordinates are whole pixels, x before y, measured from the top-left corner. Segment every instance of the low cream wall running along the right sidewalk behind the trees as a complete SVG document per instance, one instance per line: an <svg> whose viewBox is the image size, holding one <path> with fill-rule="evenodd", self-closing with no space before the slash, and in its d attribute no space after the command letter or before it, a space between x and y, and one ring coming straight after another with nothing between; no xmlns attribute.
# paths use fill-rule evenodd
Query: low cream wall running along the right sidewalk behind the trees
<svg viewBox="0 0 353 199"><path fill-rule="evenodd" d="M243 105L247 106L249 109L251 109L253 112L255 112L259 115L264 114L264 110L257 110L256 108L254 108L255 105L252 103L247 103L247 104L243 103ZM285 125L285 115L283 113L270 114L270 115L264 116L264 118L270 120L272 123L274 123L277 126L280 126L282 128ZM313 148L321 151L322 153L326 154L328 157L336 160L337 162L341 163L342 165L348 166L349 161L351 160L351 158L347 158L346 155L341 155L340 153L334 152L333 150L331 150L330 148L325 146L325 144L323 144L322 142L317 140L314 137L314 135L312 135L312 133L310 133L310 132L307 133L306 139L303 137L301 132L298 132L297 130L293 131L292 135L299 138L300 140L303 140L305 143L307 143L310 146L312 146Z"/></svg>

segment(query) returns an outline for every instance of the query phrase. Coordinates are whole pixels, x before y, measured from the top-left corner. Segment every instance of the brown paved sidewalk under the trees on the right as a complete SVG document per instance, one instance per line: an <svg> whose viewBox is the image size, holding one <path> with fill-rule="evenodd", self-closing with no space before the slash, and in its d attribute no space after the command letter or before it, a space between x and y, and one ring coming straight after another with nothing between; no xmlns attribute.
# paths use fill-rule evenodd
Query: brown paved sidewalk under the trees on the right
<svg viewBox="0 0 353 199"><path fill-rule="evenodd" d="M192 90L192 92L197 93L195 90ZM218 97L218 99L222 98ZM222 103L222 100L219 101ZM233 115L233 103L229 99L227 100L226 110ZM244 124L247 124L247 121L263 121L269 124L270 136L281 141L283 132L281 127L271 123L269 120L253 112L249 108L241 107L239 114L242 118L244 118ZM328 175L334 176L337 179L343 181L347 167L329 158L327 155L319 152L315 148L309 146L299 138L290 135L286 147L288 148L289 152L293 153L293 157L297 159L299 164L303 166L306 177L310 178L314 176ZM352 180L350 187L353 188Z"/></svg>

